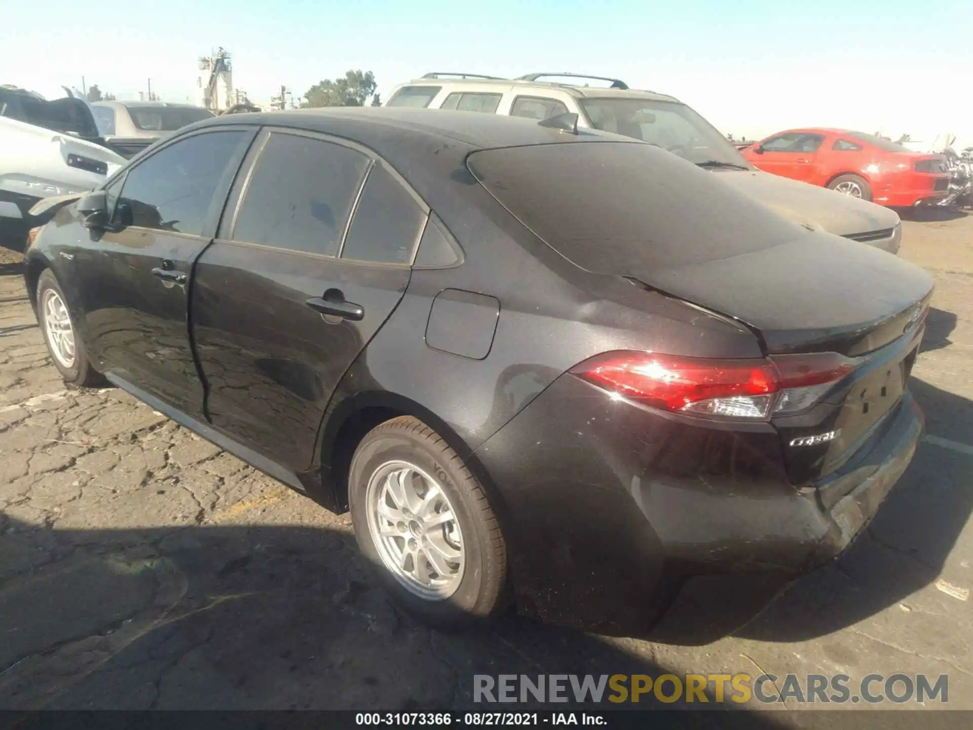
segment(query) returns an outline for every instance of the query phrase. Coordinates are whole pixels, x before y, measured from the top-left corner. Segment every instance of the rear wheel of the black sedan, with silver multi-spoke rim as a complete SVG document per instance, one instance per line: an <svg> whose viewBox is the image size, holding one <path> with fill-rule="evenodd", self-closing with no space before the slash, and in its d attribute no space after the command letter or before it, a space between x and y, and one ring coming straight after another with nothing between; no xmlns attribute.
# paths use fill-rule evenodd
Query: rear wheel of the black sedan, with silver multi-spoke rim
<svg viewBox="0 0 973 730"><path fill-rule="evenodd" d="M506 545L462 459L425 423L387 420L359 444L348 474L355 537L392 596L436 625L504 607Z"/></svg>

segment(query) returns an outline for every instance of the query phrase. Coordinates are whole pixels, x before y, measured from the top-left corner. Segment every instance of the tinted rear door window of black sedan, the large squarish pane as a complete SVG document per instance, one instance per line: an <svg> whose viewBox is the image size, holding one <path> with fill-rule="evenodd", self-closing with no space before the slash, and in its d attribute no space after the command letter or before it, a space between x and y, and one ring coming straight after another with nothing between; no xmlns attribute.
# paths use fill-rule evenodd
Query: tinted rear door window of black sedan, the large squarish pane
<svg viewBox="0 0 973 730"><path fill-rule="evenodd" d="M337 256L368 164L342 145L274 132L250 176L233 239Z"/></svg>

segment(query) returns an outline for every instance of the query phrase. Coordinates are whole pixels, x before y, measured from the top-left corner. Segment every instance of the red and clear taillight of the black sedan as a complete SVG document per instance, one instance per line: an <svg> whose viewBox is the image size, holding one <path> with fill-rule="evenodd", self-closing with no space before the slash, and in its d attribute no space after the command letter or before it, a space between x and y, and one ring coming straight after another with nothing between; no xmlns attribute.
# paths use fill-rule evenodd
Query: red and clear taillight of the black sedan
<svg viewBox="0 0 973 730"><path fill-rule="evenodd" d="M706 360L626 351L598 355L571 373L616 398L673 413L767 420L811 407L855 365L832 352Z"/></svg>

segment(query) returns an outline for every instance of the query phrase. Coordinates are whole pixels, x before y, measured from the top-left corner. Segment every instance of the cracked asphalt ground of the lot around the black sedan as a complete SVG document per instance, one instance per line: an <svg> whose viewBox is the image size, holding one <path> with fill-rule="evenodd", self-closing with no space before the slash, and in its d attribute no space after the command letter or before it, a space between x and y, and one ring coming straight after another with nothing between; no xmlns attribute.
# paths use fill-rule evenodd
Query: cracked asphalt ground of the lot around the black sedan
<svg viewBox="0 0 973 730"><path fill-rule="evenodd" d="M949 675L973 709L973 215L904 225L937 279L912 383L929 436L846 555L702 647L400 615L346 516L117 389L66 389L0 249L0 708L462 710L475 674L766 672ZM753 722L821 724L801 707Z"/></svg>

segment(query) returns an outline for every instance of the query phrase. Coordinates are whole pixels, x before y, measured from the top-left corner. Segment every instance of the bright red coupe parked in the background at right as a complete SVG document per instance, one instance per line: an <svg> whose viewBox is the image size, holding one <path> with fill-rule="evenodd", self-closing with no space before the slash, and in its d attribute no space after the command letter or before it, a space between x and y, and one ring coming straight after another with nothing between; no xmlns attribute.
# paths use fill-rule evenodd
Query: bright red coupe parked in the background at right
<svg viewBox="0 0 973 730"><path fill-rule="evenodd" d="M950 172L942 155L924 155L874 134L788 129L743 150L762 170L893 207L945 198Z"/></svg>

